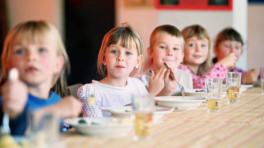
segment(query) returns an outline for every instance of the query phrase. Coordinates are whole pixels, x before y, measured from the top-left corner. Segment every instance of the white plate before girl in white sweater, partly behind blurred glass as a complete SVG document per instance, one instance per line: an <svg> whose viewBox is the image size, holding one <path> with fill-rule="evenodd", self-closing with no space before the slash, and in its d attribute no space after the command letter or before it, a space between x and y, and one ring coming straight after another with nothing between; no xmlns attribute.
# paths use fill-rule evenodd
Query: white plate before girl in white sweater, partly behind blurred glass
<svg viewBox="0 0 264 148"><path fill-rule="evenodd" d="M132 106L119 106L119 107L101 107L105 112L109 112L113 117L131 117L133 115ZM162 118L164 115L173 112L173 108L155 106L155 111L153 113L153 121L157 121Z"/></svg>

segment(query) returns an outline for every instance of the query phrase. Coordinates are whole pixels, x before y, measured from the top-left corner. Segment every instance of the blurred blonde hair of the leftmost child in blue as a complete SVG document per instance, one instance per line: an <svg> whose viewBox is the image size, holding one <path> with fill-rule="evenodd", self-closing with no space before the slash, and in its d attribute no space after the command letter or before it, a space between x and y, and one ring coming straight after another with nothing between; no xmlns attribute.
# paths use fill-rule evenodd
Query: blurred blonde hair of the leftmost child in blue
<svg viewBox="0 0 264 148"><path fill-rule="evenodd" d="M6 36L4 48L2 51L2 76L0 85L7 80L10 70L10 56L14 46L27 41L26 43L50 43L50 36L56 40L56 50L58 56L63 56L64 65L61 71L53 76L52 90L60 94L61 97L66 96L67 90L67 73L70 71L69 57L63 45L59 31L50 23L40 21L26 21L14 26Z"/></svg>

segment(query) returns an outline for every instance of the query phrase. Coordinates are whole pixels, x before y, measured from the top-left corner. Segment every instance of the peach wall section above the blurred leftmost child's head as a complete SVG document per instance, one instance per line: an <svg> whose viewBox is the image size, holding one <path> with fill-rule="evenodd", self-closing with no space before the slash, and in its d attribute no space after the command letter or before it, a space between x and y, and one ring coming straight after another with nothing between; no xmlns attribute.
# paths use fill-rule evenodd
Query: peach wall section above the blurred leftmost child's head
<svg viewBox="0 0 264 148"><path fill-rule="evenodd" d="M47 20L64 36L63 0L6 0L9 29L27 20Z"/></svg>

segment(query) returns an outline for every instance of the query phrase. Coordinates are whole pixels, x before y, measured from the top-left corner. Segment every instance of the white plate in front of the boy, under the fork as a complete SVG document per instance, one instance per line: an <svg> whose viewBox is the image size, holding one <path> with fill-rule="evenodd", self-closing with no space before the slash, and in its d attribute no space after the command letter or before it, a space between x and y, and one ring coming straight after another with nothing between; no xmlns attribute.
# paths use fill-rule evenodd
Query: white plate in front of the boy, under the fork
<svg viewBox="0 0 264 148"><path fill-rule="evenodd" d="M155 97L158 105L164 107L172 107L177 110L195 109L202 102L205 102L205 97L185 96L169 96L169 97Z"/></svg>

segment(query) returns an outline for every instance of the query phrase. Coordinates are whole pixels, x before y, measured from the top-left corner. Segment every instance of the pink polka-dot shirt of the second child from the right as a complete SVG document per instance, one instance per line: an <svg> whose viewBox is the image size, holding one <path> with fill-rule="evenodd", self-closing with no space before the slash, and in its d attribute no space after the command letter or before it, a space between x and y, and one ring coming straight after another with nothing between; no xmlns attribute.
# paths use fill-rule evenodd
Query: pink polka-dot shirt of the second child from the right
<svg viewBox="0 0 264 148"><path fill-rule="evenodd" d="M227 68L223 65L215 63L212 68L202 76L194 74L187 65L180 64L179 67L182 70L188 71L192 75L193 88L204 88L204 78L225 78L225 73L228 72Z"/></svg>

